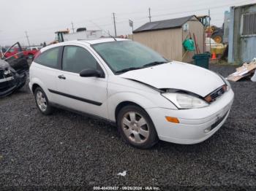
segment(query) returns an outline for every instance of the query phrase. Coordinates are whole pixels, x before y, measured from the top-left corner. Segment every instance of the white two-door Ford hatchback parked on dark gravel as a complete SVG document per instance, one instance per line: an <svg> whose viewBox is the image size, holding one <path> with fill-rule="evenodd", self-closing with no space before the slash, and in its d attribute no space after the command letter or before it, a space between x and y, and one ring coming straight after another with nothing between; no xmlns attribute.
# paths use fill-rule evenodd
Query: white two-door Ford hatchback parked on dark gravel
<svg viewBox="0 0 256 191"><path fill-rule="evenodd" d="M223 125L233 104L229 82L213 71L167 61L125 39L44 47L30 67L29 87L42 114L53 106L113 122L134 147L157 141L196 144Z"/></svg>

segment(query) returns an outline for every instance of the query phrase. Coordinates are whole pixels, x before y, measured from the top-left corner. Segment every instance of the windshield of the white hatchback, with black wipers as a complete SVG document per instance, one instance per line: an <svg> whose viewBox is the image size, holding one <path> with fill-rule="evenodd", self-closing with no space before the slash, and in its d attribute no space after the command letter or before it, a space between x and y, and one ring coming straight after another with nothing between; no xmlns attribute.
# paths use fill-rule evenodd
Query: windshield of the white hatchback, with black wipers
<svg viewBox="0 0 256 191"><path fill-rule="evenodd" d="M168 62L162 55L138 42L103 42L92 47L116 74Z"/></svg>

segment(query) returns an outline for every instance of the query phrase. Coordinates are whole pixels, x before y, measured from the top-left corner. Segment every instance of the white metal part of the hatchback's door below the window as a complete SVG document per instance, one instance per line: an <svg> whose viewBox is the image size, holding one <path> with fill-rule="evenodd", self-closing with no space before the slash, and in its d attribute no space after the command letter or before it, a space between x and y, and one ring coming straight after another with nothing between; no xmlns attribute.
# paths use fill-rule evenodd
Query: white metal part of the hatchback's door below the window
<svg viewBox="0 0 256 191"><path fill-rule="evenodd" d="M58 71L57 75L64 75L66 77L66 79L56 79L57 91L76 98L60 95L56 104L108 118L108 112L105 112L108 110L108 79L80 77L79 74L68 71ZM82 99L78 100L79 98Z"/></svg>

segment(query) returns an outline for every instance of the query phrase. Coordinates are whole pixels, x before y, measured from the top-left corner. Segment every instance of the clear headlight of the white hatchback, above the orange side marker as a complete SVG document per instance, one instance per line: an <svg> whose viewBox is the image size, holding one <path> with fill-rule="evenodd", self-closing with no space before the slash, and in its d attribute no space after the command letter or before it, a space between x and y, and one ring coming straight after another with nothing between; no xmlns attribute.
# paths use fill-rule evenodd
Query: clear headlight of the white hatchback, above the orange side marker
<svg viewBox="0 0 256 191"><path fill-rule="evenodd" d="M173 102L178 109L195 109L209 105L203 99L185 93L162 93L162 95Z"/></svg>

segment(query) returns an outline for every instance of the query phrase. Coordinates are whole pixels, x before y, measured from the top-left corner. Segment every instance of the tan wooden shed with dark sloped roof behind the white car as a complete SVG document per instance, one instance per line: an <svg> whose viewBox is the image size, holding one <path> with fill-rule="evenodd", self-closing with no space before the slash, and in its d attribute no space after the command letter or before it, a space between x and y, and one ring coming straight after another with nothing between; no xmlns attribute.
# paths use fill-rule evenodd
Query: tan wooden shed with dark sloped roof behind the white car
<svg viewBox="0 0 256 191"><path fill-rule="evenodd" d="M184 50L183 42L192 37L200 53L204 47L204 27L195 15L146 23L133 31L133 39L156 50L171 61L192 62L195 52Z"/></svg>

